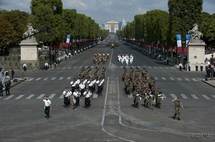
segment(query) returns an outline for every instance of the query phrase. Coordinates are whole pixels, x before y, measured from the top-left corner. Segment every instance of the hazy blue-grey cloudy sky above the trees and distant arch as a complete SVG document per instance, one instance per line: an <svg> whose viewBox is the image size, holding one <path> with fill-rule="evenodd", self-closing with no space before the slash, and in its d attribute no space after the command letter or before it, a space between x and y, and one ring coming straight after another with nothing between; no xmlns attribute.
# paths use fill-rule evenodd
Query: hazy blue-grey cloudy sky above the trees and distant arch
<svg viewBox="0 0 215 142"><path fill-rule="evenodd" d="M135 14L168 9L168 0L62 0L64 8L77 9L100 24L107 20L131 21ZM0 0L0 9L30 11L31 0ZM204 11L215 13L215 0L204 0Z"/></svg>

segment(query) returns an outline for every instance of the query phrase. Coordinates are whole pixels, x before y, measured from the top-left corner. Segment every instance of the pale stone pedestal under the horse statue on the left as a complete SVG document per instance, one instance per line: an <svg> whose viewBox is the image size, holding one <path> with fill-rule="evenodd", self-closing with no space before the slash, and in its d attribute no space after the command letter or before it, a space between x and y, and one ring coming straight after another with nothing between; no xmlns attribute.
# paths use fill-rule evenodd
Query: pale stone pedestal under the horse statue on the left
<svg viewBox="0 0 215 142"><path fill-rule="evenodd" d="M35 66L35 64L38 61L38 48L37 48L37 41L35 37L30 37L25 40L23 40L20 43L21 48L21 63L26 64L32 64Z"/></svg>

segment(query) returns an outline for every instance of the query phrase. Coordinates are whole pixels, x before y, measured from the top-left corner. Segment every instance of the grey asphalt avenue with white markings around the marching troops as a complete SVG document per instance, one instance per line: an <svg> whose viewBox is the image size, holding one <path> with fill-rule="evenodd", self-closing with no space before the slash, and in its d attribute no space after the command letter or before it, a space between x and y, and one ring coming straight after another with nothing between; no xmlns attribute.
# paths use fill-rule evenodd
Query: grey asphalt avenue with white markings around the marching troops
<svg viewBox="0 0 215 142"><path fill-rule="evenodd" d="M112 49L107 45L117 42ZM0 142L214 142L215 89L201 82L204 73L180 72L157 64L116 36L60 64L55 70L28 72L28 80L0 98ZM103 95L85 109L64 108L62 91L82 67L93 66L96 52L109 53ZM166 99L161 109L133 108L123 91L119 54L132 54L147 69ZM42 98L52 100L51 118L44 118ZM182 120L173 120L172 99L181 98Z"/></svg>

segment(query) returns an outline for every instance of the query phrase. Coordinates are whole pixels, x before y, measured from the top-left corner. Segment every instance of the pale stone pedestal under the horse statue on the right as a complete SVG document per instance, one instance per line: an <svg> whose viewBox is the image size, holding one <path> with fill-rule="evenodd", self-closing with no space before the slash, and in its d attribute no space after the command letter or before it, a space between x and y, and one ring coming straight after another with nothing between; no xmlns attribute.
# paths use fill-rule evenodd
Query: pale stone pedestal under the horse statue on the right
<svg viewBox="0 0 215 142"><path fill-rule="evenodd" d="M188 70L205 71L205 42L191 40L188 49Z"/></svg>

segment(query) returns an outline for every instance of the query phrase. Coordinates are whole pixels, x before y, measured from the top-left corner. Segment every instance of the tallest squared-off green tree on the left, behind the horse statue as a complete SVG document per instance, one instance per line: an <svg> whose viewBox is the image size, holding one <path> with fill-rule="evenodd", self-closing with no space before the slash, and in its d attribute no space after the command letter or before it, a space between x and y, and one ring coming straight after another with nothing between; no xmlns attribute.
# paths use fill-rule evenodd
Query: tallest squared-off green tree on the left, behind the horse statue
<svg viewBox="0 0 215 142"><path fill-rule="evenodd" d="M61 0L32 0L32 23L39 33L37 39L47 45L62 41L65 34Z"/></svg>

